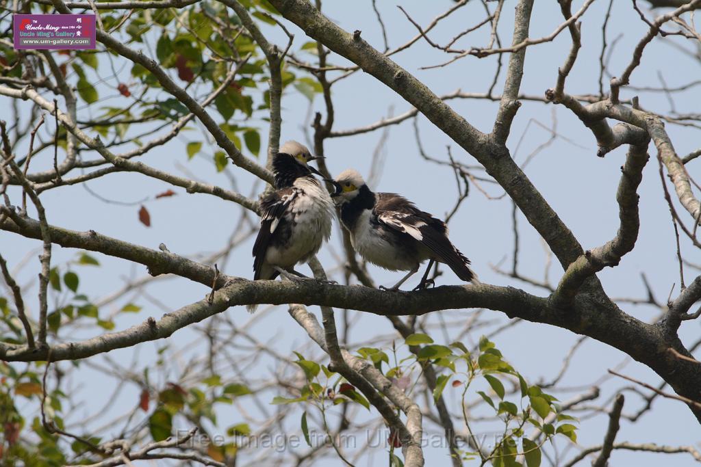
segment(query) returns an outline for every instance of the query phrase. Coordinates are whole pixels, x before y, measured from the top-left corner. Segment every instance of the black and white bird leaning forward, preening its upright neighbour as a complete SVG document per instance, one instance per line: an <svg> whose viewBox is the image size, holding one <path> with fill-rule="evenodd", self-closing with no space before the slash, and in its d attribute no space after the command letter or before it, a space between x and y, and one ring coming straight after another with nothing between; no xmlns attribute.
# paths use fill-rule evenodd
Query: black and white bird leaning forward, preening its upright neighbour
<svg viewBox="0 0 701 467"><path fill-rule="evenodd" d="M390 271L409 271L390 290L397 290L429 260L414 290L425 288L433 263L447 264L463 281L479 283L470 260L448 239L448 227L395 193L373 193L362 176L347 169L334 181L332 195L341 208L341 223L360 256Z"/></svg>

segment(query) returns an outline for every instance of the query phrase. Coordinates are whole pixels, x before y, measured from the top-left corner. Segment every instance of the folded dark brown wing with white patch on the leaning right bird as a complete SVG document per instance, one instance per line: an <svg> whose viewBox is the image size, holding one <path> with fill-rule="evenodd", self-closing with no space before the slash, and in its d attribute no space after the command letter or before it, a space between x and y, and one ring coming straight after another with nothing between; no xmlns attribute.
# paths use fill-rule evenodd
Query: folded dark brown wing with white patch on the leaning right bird
<svg viewBox="0 0 701 467"><path fill-rule="evenodd" d="M450 242L447 225L440 219L421 211L414 203L394 193L379 193L374 214L380 223L421 242L435 254L437 260L449 265L463 281L470 281L474 277L470 260Z"/></svg>

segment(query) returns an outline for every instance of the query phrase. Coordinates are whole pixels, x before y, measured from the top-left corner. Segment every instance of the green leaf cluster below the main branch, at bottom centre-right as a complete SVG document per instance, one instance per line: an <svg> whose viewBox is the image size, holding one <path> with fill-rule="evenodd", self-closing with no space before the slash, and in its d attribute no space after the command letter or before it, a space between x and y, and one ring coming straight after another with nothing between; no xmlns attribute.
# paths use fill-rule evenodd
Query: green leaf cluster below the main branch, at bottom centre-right
<svg viewBox="0 0 701 467"><path fill-rule="evenodd" d="M393 380L407 393L410 393L421 377L424 365L435 365L440 374L437 377L433 398L442 397L446 387L461 389L461 406L463 421L476 445L482 440L477 433L470 431L470 414L468 413L468 389L484 386L485 390L475 391L475 395L484 401L484 407L491 410L494 420L502 425L501 435L494 440L491 449L480 447L480 452L461 450L454 455L465 461L479 460L491 463L494 467L538 467L540 466L541 447L555 435L562 435L576 442L577 427L574 417L563 413L557 405L557 398L545 393L539 386L528 384L526 379L515 370L494 342L486 337L479 340L479 347L470 351L461 342L449 345L436 344L426 334L409 335L404 343L409 348L409 356L397 358L397 348L393 347L393 364L390 355L383 349L362 347L358 356L372 362L383 375ZM299 396L287 398L277 396L273 404L304 403L316 407L322 414L325 425L325 410L340 403L358 403L369 409L369 403L358 391L340 376L334 374L325 365L306 360L297 354L297 365L304 372L306 384L299 389ZM507 389L509 388L509 389ZM324 426L327 431L327 427ZM301 430L308 441L307 410L301 419ZM526 431L537 430L540 437L531 439ZM328 431L327 431L328 433ZM536 440L538 440L536 442ZM490 439L490 442L492 440ZM390 464L401 466L401 460L393 453L397 440L390 435ZM522 459L522 460L521 460Z"/></svg>

